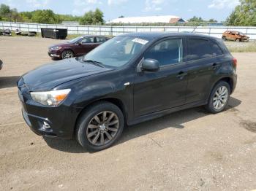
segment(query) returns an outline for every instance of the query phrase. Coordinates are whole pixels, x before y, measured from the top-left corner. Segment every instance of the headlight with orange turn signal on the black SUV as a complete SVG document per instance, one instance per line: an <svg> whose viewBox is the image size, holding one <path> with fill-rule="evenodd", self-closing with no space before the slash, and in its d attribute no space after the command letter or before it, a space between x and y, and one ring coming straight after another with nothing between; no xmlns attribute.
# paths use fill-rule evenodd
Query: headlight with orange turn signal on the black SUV
<svg viewBox="0 0 256 191"><path fill-rule="evenodd" d="M31 98L45 106L58 106L69 94L70 89L49 92L31 92Z"/></svg>

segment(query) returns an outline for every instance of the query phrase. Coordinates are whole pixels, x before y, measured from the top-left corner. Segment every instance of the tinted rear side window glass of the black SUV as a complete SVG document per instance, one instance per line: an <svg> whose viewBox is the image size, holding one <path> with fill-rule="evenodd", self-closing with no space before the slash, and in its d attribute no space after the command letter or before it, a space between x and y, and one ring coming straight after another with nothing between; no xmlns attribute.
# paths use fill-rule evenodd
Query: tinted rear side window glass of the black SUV
<svg viewBox="0 0 256 191"><path fill-rule="evenodd" d="M208 40L189 39L188 42L189 53L187 58L189 61L222 55L222 50L220 50L219 46Z"/></svg>

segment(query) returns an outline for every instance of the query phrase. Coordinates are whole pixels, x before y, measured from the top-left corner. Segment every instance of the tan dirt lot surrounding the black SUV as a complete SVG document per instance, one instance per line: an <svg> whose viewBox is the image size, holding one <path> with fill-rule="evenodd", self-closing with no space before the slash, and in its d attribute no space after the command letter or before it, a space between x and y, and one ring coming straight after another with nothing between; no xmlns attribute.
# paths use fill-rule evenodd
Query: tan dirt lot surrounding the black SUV
<svg viewBox="0 0 256 191"><path fill-rule="evenodd" d="M233 54L238 85L225 112L195 108L143 122L90 153L35 135L20 114L15 81L51 62L47 47L57 42L0 36L0 190L256 189L256 53Z"/></svg>

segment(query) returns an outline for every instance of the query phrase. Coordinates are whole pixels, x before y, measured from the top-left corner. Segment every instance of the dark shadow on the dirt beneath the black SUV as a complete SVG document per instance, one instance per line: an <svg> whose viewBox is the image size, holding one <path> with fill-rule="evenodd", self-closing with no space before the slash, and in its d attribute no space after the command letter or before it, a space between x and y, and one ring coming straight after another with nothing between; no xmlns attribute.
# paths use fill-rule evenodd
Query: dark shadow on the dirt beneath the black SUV
<svg viewBox="0 0 256 191"><path fill-rule="evenodd" d="M240 100L230 97L230 101L228 102L227 109L225 109L225 111L236 112L236 106L240 104ZM180 112L174 112L172 114L167 114L164 117L159 117L155 120L141 122L138 125L132 125L124 128L121 139L117 141L116 145L166 128L176 128L178 130L182 130L184 129L184 123L192 120L197 120L200 117L205 117L209 114L211 113L207 112L206 109L203 108L203 106L200 106L192 109L185 109ZM62 152L89 152L86 149L83 149L83 147L81 147L80 144L78 144L78 142L75 140L52 139L48 137L45 137L44 139L49 147Z"/></svg>

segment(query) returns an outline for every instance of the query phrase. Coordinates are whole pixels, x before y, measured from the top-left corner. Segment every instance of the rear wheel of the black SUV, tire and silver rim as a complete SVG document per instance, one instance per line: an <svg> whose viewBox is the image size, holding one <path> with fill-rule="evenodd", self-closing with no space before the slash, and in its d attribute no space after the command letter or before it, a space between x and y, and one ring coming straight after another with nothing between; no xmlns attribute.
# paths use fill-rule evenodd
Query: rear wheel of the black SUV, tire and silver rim
<svg viewBox="0 0 256 191"><path fill-rule="evenodd" d="M222 89L220 89L221 87ZM223 90L222 93L221 93L221 90ZM226 91L227 93L224 94L224 92ZM208 104L205 107L208 110L208 112L211 112L214 114L222 112L227 106L229 98L230 98L230 85L225 81L219 81L211 90L210 97L208 98ZM216 104L217 102L219 102L220 104Z"/></svg>

